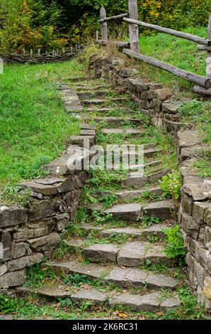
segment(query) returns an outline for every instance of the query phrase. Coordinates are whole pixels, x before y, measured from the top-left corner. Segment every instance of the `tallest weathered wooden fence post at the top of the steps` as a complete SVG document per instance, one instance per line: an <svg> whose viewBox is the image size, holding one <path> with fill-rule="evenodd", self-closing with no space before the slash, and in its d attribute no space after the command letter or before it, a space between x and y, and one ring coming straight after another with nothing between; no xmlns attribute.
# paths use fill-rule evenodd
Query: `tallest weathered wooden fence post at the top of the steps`
<svg viewBox="0 0 211 334"><path fill-rule="evenodd" d="M128 9L130 18L132 20L138 20L138 6L137 0L129 0L128 1ZM140 52L139 47L139 27L137 24L129 24L129 33L130 33L130 50L135 53Z"/></svg>

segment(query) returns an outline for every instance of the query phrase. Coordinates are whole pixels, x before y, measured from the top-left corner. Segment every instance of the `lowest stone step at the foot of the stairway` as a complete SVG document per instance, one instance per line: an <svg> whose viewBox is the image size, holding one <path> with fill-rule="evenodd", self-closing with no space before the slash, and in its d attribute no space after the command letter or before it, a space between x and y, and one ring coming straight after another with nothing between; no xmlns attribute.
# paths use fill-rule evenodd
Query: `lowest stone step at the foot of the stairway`
<svg viewBox="0 0 211 334"><path fill-rule="evenodd" d="M45 298L55 299L68 296L76 304L89 302L92 306L102 306L105 303L109 303L110 306L127 306L132 311L165 311L167 308L181 306L176 293L169 293L168 297L163 296L161 292L146 293L140 296L131 293L105 293L96 289L81 289L66 293L64 288L55 285L42 286L37 293Z"/></svg>

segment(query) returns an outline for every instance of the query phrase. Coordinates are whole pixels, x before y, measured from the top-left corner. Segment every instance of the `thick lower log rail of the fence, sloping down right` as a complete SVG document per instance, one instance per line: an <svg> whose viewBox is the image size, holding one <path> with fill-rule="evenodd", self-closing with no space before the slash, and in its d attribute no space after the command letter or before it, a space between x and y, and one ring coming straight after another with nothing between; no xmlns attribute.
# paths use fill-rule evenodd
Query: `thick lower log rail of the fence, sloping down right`
<svg viewBox="0 0 211 334"><path fill-rule="evenodd" d="M202 77L200 75L195 75L191 72L188 72L186 70L181 70L181 68L176 68L176 66L169 65L167 63L164 63L160 60L156 60L152 57L149 57L147 55L142 55L139 53L134 53L131 50L124 49L123 53L126 55L129 55L132 58L135 58L137 60L142 60L144 63L154 65L157 68L161 68L162 70L166 70L168 72L173 73L174 75L177 75L178 77L182 77L183 79L186 79L190 82L194 82L196 85L200 87L205 87L208 89L210 87L210 79L206 77Z"/></svg>

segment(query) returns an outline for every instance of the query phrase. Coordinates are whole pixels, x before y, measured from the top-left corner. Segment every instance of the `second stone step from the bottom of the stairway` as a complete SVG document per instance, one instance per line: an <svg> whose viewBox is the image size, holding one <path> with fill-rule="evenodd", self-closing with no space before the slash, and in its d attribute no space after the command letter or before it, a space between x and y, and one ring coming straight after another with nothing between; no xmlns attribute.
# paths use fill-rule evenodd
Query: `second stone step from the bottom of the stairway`
<svg viewBox="0 0 211 334"><path fill-rule="evenodd" d="M147 286L147 289L158 290L161 288L176 289L179 285L179 281L171 276L138 268L120 268L108 266L108 264L101 266L95 263L84 265L77 262L49 262L42 266L50 267L57 275L81 274L86 275L89 279L100 279L102 284L117 284L123 288Z"/></svg>

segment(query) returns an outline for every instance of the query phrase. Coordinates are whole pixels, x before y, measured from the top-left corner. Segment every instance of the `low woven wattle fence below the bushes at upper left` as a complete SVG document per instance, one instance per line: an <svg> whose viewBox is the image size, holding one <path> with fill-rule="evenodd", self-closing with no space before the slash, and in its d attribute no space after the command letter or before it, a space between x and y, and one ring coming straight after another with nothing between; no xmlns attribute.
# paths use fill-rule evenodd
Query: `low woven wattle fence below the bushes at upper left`
<svg viewBox="0 0 211 334"><path fill-rule="evenodd" d="M40 49L36 51L30 49L30 52L27 53L23 48L22 53L0 53L0 57L5 63L57 63L76 57L83 52L87 45L75 45L75 47L52 50L51 52L45 51L45 53Z"/></svg>

